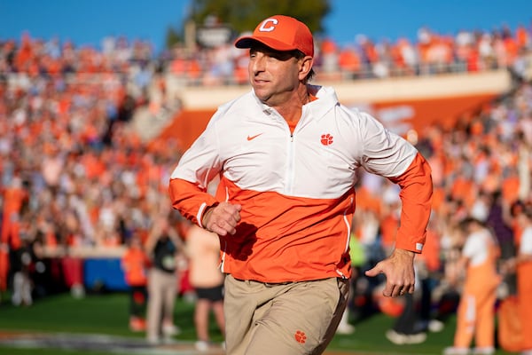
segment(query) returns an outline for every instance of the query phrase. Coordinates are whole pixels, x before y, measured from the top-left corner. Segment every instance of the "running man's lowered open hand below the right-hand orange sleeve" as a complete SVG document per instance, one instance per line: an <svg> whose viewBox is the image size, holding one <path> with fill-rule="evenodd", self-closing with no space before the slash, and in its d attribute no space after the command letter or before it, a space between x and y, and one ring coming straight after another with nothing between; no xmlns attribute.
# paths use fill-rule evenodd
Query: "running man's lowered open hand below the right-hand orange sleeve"
<svg viewBox="0 0 532 355"><path fill-rule="evenodd" d="M366 276L375 277L379 273L386 276L386 286L382 295L386 297L403 296L405 293L414 293L414 256L413 251L395 249L391 256L380 261L371 270L365 272Z"/></svg>

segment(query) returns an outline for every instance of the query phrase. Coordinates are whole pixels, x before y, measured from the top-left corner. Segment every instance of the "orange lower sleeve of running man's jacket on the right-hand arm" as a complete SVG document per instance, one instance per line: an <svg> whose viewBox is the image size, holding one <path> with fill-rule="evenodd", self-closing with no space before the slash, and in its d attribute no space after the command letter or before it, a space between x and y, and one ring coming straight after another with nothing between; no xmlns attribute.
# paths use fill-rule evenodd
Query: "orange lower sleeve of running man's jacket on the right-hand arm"
<svg viewBox="0 0 532 355"><path fill-rule="evenodd" d="M431 212L433 184L430 166L418 153L402 175L389 179L401 187L399 197L403 202L395 248L420 253L425 244L426 225Z"/></svg>

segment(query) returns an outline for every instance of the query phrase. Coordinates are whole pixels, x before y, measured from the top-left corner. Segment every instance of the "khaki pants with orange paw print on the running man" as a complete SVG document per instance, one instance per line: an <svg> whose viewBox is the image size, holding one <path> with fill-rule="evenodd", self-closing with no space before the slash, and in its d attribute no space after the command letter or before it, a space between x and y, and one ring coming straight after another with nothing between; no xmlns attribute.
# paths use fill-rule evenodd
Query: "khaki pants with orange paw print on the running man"
<svg viewBox="0 0 532 355"><path fill-rule="evenodd" d="M225 278L227 354L321 354L348 301L348 280L288 284Z"/></svg>

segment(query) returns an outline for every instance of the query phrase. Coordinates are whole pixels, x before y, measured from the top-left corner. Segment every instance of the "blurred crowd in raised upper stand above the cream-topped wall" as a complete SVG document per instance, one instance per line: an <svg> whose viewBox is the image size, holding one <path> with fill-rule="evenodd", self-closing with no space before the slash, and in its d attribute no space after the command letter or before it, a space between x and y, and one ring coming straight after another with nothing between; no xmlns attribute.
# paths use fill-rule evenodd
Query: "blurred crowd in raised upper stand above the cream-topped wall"
<svg viewBox="0 0 532 355"><path fill-rule="evenodd" d="M316 38L317 80L353 80L409 75L478 72L497 68L523 70L532 49L532 28L507 26L492 31L462 30L438 34L419 28L416 41L375 41L357 35L350 43ZM164 70L192 85L247 83L247 53L232 43L200 51L176 48L166 53Z"/></svg>

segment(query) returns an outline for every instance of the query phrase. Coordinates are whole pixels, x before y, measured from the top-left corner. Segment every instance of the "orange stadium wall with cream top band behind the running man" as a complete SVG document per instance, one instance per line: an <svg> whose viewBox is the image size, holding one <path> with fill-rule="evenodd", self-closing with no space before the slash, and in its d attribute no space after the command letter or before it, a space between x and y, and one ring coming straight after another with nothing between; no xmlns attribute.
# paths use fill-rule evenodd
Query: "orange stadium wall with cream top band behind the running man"
<svg viewBox="0 0 532 355"><path fill-rule="evenodd" d="M511 77L501 70L473 75L320 84L333 86L340 102L346 106L359 107L373 114L390 130L404 135L409 130L423 133L426 126L434 123L451 127L497 95L509 91ZM180 149L188 148L205 129L217 106L249 90L248 86L204 87L177 92L183 99L184 108L153 144L174 139Z"/></svg>

